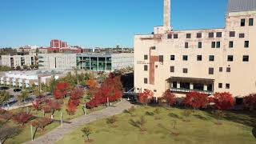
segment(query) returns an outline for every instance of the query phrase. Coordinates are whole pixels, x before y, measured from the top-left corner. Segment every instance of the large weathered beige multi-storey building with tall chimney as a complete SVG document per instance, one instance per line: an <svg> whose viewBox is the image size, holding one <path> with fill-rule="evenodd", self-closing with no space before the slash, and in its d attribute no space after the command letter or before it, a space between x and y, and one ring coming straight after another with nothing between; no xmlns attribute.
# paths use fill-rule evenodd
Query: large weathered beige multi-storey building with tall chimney
<svg viewBox="0 0 256 144"><path fill-rule="evenodd" d="M155 97L165 90L183 95L256 92L256 1L229 0L226 26L209 30L173 30L170 0L164 1L164 26L134 37L134 86Z"/></svg>

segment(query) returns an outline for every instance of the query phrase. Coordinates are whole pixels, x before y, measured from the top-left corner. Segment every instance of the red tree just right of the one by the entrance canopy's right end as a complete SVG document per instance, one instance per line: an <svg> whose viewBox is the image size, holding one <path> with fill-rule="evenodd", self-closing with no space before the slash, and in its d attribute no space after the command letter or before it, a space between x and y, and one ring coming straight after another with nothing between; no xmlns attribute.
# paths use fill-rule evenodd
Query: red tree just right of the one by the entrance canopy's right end
<svg viewBox="0 0 256 144"><path fill-rule="evenodd" d="M214 115L218 119L217 124L221 125L222 123L219 120L225 115L223 110L230 110L234 106L234 98L230 93L215 93L211 102L214 102L214 107L217 109L214 111Z"/></svg>

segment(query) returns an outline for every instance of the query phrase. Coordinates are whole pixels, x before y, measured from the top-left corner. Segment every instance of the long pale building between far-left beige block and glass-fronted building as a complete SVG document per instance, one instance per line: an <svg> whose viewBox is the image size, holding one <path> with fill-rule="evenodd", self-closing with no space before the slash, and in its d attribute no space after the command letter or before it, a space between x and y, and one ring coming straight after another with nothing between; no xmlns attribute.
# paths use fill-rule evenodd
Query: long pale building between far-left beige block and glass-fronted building
<svg viewBox="0 0 256 144"><path fill-rule="evenodd" d="M39 70L72 70L77 66L76 54L38 54Z"/></svg>

